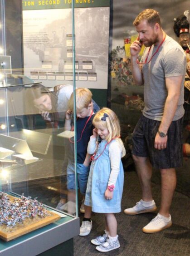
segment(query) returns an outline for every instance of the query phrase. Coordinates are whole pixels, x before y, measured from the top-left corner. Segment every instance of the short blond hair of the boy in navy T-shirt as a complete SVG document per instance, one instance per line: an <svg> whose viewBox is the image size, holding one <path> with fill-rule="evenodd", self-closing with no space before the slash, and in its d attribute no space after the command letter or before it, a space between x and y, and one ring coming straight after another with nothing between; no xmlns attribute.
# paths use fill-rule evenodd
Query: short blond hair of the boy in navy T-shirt
<svg viewBox="0 0 190 256"><path fill-rule="evenodd" d="M80 111L83 108L88 108L89 104L92 103L93 94L87 88L78 88L75 90L76 95L76 108ZM73 93L68 101L68 108L73 111L74 99Z"/></svg>

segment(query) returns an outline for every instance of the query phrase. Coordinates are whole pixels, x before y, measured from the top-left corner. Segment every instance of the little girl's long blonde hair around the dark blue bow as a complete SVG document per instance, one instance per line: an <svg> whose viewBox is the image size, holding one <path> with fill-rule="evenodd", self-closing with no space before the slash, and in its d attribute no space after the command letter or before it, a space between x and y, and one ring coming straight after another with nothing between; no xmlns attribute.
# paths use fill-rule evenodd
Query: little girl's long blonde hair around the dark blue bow
<svg viewBox="0 0 190 256"><path fill-rule="evenodd" d="M95 127L97 125L101 125L103 128L107 128L107 130L109 131L109 134L106 138L107 142L109 143L113 138L116 138L121 145L122 157L124 157L126 154L126 150L120 138L121 129L119 119L117 118L116 113L114 113L110 108L100 109L93 118L93 125Z"/></svg>

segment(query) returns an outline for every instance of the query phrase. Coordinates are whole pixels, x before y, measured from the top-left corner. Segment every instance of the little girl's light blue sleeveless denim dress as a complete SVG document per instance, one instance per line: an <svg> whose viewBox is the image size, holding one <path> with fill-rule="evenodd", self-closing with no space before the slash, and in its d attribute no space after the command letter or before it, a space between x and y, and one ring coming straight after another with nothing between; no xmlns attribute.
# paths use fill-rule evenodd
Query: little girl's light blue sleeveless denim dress
<svg viewBox="0 0 190 256"><path fill-rule="evenodd" d="M95 158L97 158L102 152L103 153L97 160L93 160L93 162L91 163L84 204L87 206L91 206L93 212L121 212L122 191L124 182L122 161L120 161L120 170L118 173L117 182L115 184L115 189L113 191L113 198L111 200L107 200L104 197L111 172L109 147L112 143L116 142L117 139L112 140L112 142L109 143L103 151L107 141L102 140L102 142L98 145Z"/></svg>

